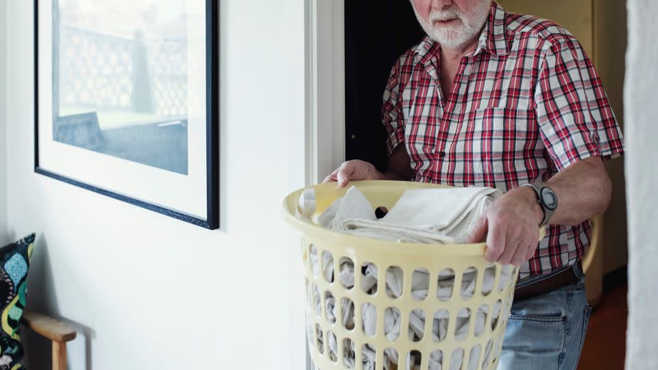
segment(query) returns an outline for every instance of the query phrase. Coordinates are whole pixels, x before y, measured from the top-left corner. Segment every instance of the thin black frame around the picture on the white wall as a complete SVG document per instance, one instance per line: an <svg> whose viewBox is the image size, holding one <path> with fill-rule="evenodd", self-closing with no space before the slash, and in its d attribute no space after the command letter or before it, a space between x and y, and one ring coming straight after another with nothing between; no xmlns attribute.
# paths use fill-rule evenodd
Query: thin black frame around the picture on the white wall
<svg viewBox="0 0 658 370"><path fill-rule="evenodd" d="M191 216L55 173L39 163L39 5L34 0L34 172L209 230L219 228L219 7L206 0L206 218Z"/></svg>

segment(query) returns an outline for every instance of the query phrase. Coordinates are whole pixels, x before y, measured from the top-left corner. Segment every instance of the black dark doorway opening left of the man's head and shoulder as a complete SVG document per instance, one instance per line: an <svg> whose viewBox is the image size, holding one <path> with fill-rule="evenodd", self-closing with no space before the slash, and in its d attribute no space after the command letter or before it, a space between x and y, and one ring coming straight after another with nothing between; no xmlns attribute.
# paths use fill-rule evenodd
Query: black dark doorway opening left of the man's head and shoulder
<svg viewBox="0 0 658 370"><path fill-rule="evenodd" d="M425 36L408 0L345 0L345 158L387 169L382 95L391 68Z"/></svg>

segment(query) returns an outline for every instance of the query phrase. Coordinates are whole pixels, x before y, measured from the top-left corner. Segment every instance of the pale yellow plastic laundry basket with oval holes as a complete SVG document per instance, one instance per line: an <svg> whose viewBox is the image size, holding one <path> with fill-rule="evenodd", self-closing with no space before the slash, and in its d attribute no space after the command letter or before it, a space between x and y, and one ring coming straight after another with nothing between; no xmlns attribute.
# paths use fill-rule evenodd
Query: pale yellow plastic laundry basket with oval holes
<svg viewBox="0 0 658 370"><path fill-rule="evenodd" d="M393 181L363 181L352 182L377 208L385 206L392 208L402 193L409 188L440 188L435 184L417 182ZM339 188L337 184L319 184L314 186L317 199L315 214L321 214L332 202L345 195L350 187ZM362 369L364 351L374 352L375 362L371 369L385 369L385 351L387 354L395 353L398 363L390 362L387 369L429 369L430 358L441 358L443 370L467 369L467 364L476 363L476 369L496 369L502 346L502 338L507 325L507 317L514 293L514 284L518 275L517 269L511 271L508 284L499 286L502 266L489 264L484 258L485 244L470 245L427 245L413 243L395 243L352 236L328 230L315 223L296 217L300 189L286 197L284 200L284 217L295 229L302 234L302 257L304 258L304 282L306 286L306 320L310 355L318 369L351 369L352 364L345 362L343 348L354 348L354 368ZM317 260L321 268L313 269L311 260ZM354 266L354 284L348 288L339 278L341 266ZM343 263L345 262L345 263ZM333 275L323 273L324 264L333 264ZM376 291L368 293L361 289L361 268L367 264L374 264L378 271L379 287ZM474 293L467 297L461 291L464 271L476 270ZM402 269L402 295L391 297L384 288L387 271ZM493 288L483 291L483 276L485 269L495 270ZM426 297L417 300L411 295L413 275L419 271L429 274L429 286ZM445 276L446 271L454 273L452 283L453 291L450 297L439 297L437 294L437 277L440 273ZM470 275L471 278L473 275ZM473 280L473 279L472 279ZM432 286L433 285L433 286ZM334 320L328 317L326 300L332 297L339 306L339 316ZM354 314L353 327L343 325L345 314L340 309L343 300L347 306L352 306ZM317 310L317 302L320 302ZM364 305L374 305L376 308L376 332L369 336L364 332L362 325L362 309ZM494 314L494 305L500 307L500 313ZM385 312L396 310L399 312L400 330L398 338L385 336ZM408 335L411 312L421 312L424 316L424 334L421 338ZM467 310L467 311L466 311ZM487 311L484 330L476 332L474 323L478 310ZM447 335L439 338L432 336L435 330L435 317L437 312L449 314ZM455 335L456 316L458 312L468 312L467 334L463 330L459 336ZM416 315L416 317L419 317ZM500 319L499 319L500 318ZM302 319L302 318L300 318ZM461 319L463 329L464 319ZM443 321L445 323L445 321ZM352 326L352 325L350 325ZM481 325L480 325L481 328ZM337 353L330 353L330 343L337 343ZM487 350L488 349L488 350ZM488 352L488 358L485 353ZM352 354L352 351L350 351ZM460 358L461 364L455 365L455 359ZM474 358L476 357L476 358ZM407 363L407 360L414 364ZM452 362L451 362L452 360ZM452 365L452 366L451 366Z"/></svg>

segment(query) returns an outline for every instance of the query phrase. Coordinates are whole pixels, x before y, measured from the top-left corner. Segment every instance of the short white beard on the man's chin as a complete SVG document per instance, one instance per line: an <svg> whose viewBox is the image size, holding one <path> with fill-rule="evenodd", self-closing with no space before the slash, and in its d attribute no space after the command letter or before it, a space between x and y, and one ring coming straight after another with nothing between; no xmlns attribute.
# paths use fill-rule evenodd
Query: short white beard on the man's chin
<svg viewBox="0 0 658 370"><path fill-rule="evenodd" d="M415 6L413 11L416 13L420 25L432 40L439 42L441 47L454 49L465 45L482 30L487 21L490 8L491 2L483 0L471 12L463 13L456 8L448 8L439 12L432 10L426 19L419 16ZM435 25L435 21L452 18L458 18L461 23L451 26Z"/></svg>

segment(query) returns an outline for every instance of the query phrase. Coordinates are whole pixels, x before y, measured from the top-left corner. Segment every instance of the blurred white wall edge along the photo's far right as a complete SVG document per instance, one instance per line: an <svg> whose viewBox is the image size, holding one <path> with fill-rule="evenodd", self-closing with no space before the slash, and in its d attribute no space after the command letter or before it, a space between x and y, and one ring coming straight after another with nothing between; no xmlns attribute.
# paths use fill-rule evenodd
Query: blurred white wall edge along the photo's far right
<svg viewBox="0 0 658 370"><path fill-rule="evenodd" d="M626 197L629 214L629 325L626 369L658 369L658 2L629 0L626 53Z"/></svg>

